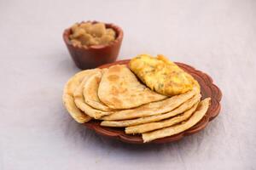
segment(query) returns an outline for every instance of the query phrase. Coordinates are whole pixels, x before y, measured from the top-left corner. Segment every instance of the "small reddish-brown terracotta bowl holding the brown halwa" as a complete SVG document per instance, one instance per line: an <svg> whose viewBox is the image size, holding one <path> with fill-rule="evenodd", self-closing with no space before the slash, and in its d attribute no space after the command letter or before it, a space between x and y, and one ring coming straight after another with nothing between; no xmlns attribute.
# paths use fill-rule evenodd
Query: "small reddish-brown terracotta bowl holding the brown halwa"
<svg viewBox="0 0 256 170"><path fill-rule="evenodd" d="M97 23L97 21L93 21L92 23ZM117 59L124 33L119 26L108 23L105 23L105 25L107 28L112 28L116 32L116 39L108 45L95 45L90 47L74 46L69 40L69 35L72 33L71 28L67 28L63 32L63 39L67 45L69 54L75 65L80 69L95 68L99 65L112 63Z"/></svg>

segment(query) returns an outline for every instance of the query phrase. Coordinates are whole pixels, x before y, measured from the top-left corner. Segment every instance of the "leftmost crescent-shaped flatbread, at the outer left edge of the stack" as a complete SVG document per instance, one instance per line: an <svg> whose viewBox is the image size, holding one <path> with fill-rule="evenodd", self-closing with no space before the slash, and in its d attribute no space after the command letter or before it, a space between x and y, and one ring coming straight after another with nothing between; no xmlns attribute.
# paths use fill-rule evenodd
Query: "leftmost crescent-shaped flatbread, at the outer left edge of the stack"
<svg viewBox="0 0 256 170"><path fill-rule="evenodd" d="M83 81L83 78L92 74L94 71L95 70L86 70L78 72L67 81L64 87L62 95L63 104L65 105L70 116L72 116L73 119L79 123L89 122L91 118L90 116L87 116L83 111L80 111L79 108L75 105L73 93L75 88L79 87L79 84Z"/></svg>

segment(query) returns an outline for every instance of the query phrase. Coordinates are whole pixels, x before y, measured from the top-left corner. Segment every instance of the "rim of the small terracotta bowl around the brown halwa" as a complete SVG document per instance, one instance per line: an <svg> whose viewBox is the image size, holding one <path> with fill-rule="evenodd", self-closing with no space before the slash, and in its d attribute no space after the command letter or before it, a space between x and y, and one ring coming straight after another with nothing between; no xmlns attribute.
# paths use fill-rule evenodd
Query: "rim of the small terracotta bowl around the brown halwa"
<svg viewBox="0 0 256 170"><path fill-rule="evenodd" d="M80 25L82 23L87 23L87 22L91 22L93 24L100 23L100 21L96 21L96 20L93 20L93 21L87 20L87 21L81 21L81 22L76 22L76 23ZM122 39L124 37L124 31L121 29L121 27L114 25L113 23L105 23L105 22L101 22L101 23L105 24L105 26L107 28L112 28L118 35L118 37L116 37L112 42L109 42L108 44L91 45L91 46L73 45L73 43L69 40L69 35L71 33L71 27L68 27L67 29L65 29L63 31L63 34L62 34L63 40L67 45L73 46L73 48L79 48L79 49L85 49L85 50L108 48L108 47L112 47L114 44L122 41Z"/></svg>

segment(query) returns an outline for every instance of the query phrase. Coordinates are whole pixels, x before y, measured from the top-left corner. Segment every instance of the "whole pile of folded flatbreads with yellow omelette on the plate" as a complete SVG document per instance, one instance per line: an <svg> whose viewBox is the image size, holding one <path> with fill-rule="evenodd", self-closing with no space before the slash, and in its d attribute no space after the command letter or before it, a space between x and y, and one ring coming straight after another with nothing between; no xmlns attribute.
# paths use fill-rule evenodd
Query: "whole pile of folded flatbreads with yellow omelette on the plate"
<svg viewBox="0 0 256 170"><path fill-rule="evenodd" d="M199 122L207 112L210 99L201 101L200 87L195 79L174 63L168 66L166 62L161 65L173 77L164 83L165 91L158 85L158 82L163 83L162 74L167 78L165 72L162 69L157 72L159 65L148 65L145 60L152 63L157 58L144 56L132 59L131 69L127 65L113 65L108 69L80 71L71 77L64 88L63 102L73 119L79 123L97 119L102 120L102 126L125 127L125 133L142 133L144 142L181 133ZM172 67L178 71L170 71ZM133 68L140 68L140 71ZM153 84L148 85L150 82Z"/></svg>

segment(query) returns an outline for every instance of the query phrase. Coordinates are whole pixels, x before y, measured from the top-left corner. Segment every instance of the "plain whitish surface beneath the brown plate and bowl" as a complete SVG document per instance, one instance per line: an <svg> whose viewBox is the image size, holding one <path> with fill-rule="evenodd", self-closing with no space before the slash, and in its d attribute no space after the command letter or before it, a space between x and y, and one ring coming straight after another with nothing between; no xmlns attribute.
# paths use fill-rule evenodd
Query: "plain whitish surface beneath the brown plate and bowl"
<svg viewBox="0 0 256 170"><path fill-rule="evenodd" d="M256 1L0 1L0 169L255 169ZM61 34L75 21L125 31L119 59L166 54L222 89L209 126L172 144L96 135L61 104L79 71ZM253 162L254 161L254 162Z"/></svg>

